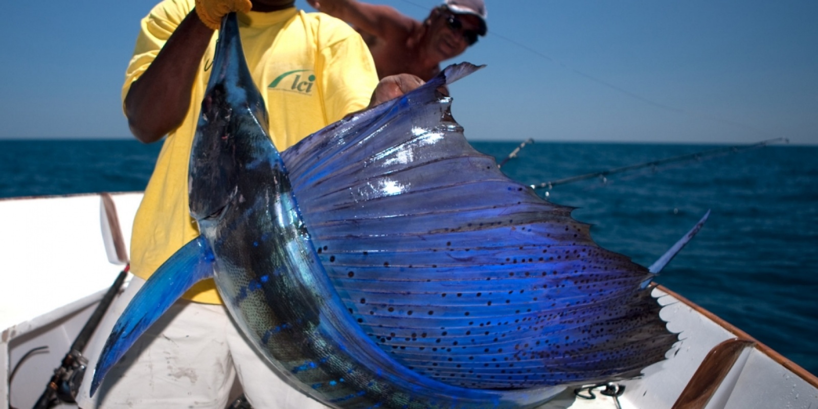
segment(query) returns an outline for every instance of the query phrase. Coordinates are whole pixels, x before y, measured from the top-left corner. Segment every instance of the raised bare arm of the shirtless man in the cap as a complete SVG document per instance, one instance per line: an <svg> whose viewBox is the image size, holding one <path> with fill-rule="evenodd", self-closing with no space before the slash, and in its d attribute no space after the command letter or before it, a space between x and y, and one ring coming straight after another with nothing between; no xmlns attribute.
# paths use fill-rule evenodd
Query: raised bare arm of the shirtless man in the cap
<svg viewBox="0 0 818 409"><path fill-rule="evenodd" d="M317 11L344 20L355 29L378 38L389 38L401 32L407 33L415 23L415 20L389 6L357 0L307 0L307 2Z"/></svg>

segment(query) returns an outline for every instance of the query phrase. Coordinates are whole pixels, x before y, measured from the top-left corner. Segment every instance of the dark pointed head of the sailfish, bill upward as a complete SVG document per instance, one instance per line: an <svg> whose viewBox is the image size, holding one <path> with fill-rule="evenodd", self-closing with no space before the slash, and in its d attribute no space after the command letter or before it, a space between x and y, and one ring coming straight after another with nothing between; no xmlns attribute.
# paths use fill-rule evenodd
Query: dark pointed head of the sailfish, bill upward
<svg viewBox="0 0 818 409"><path fill-rule="evenodd" d="M222 21L213 68L191 148L191 216L216 218L241 197L253 164L269 157L267 109L241 50L235 13ZM277 156L277 151L274 154Z"/></svg>

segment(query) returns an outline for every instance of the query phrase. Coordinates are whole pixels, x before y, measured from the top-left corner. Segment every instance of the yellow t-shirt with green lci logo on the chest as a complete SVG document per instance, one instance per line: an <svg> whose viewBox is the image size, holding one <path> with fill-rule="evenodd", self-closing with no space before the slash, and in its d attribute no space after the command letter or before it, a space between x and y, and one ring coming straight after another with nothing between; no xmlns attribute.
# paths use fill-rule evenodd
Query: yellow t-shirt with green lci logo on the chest
<svg viewBox="0 0 818 409"><path fill-rule="evenodd" d="M194 0L165 0L142 19L122 90L123 101L187 14ZM290 8L239 15L250 73L267 104L270 135L279 151L369 104L378 83L361 36L341 20ZM173 253L199 236L190 216L187 170L200 102L205 96L217 34L200 63L184 123L165 138L151 181L133 221L131 272L147 278ZM161 96L157 96L160 98ZM221 303L213 280L185 298Z"/></svg>

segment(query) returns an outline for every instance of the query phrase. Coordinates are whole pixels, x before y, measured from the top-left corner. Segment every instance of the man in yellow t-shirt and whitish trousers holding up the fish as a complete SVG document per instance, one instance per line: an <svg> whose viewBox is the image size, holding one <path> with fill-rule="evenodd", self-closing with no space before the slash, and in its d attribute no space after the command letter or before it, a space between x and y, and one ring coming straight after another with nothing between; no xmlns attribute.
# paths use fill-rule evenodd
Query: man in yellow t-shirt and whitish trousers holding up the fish
<svg viewBox="0 0 818 409"><path fill-rule="evenodd" d="M245 58L279 151L422 83L407 75L379 83L359 34L340 20L293 6L293 0L164 0L142 19L122 91L125 115L138 140L167 137L133 224L135 277L89 343L88 367L96 366L110 328L138 288L199 235L188 209L187 170L222 16L239 12ZM221 409L236 375L255 407L324 407L284 384L246 344L213 280L183 298L112 368L93 399L89 371L79 407Z"/></svg>

